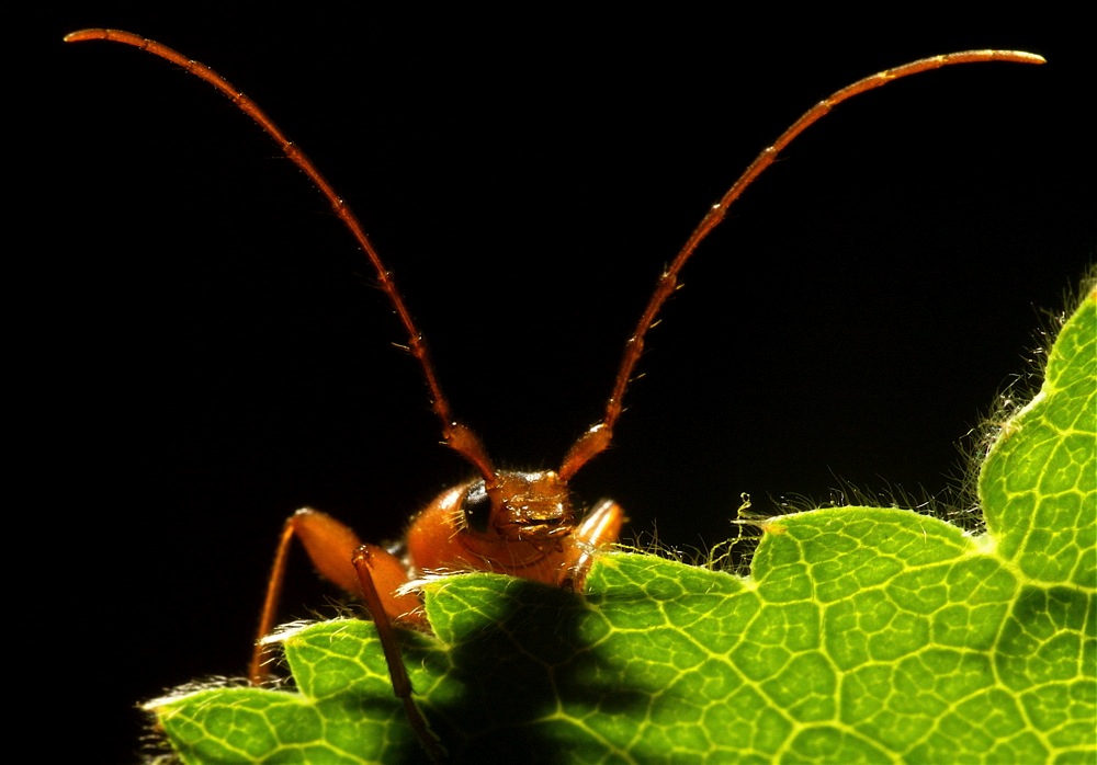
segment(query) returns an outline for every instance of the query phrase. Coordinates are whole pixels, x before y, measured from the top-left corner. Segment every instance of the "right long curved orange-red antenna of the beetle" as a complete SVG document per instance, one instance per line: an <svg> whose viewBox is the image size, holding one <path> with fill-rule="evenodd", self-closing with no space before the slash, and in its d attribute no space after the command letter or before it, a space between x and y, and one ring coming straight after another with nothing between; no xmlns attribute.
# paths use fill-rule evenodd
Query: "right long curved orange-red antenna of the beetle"
<svg viewBox="0 0 1097 765"><path fill-rule="evenodd" d="M796 136L806 130L811 125L824 115L828 114L832 109L847 99L851 99L866 91L880 88L889 82L892 82L893 80L897 80L909 75L917 75L923 71L929 71L930 69L939 69L953 64L976 64L981 61L1044 64L1042 56L1020 50L964 50L961 53L946 54L943 56L923 58L917 61L912 61L911 64L904 64L901 67L885 69L884 71L872 75L871 77L866 77L863 80L858 80L850 85L846 85L841 90L834 92L828 98L823 99L810 110L804 112L803 116L801 116L800 119L794 122L791 127L782 133L772 145L762 149L761 153L759 153L743 172L743 174L739 175L739 179L732 185L732 187L728 189L720 201L709 209L705 216L701 219L701 222L693 230L693 233L690 235L686 244L678 251L674 261L667 270L663 272L663 275L659 276L659 282L655 287L655 292L652 294L652 298L647 301L647 307L641 315L640 321L636 322L636 329L633 330L632 336L630 336L625 343L624 355L621 358L621 367L618 370L617 379L613 382L613 390L610 392L610 398L606 402L606 415L600 422L596 423L590 427L590 430L579 436L578 441L572 445L572 448L568 449L567 455L564 457L564 463L559 469L559 477L565 481L568 480L579 470L579 468L610 445L610 442L613 439L613 425L617 424L618 418L620 418L621 412L624 411L622 404L624 392L629 388L629 382L632 380L632 372L636 366L636 362L640 361L640 356L644 351L644 335L647 334L647 330L649 330L655 322L655 317L658 315L659 309L663 308L663 304L667 301L667 298L669 298L678 287L678 273L682 270L682 266L686 265L686 261L692 256L698 246L704 241L704 238L712 232L712 229L716 228L716 226L723 221L724 216L727 214L727 208L732 205L732 203L738 199L739 196L743 195L743 192L746 191L747 186L754 183L762 171L773 163L773 160L777 159L778 153L780 153L784 147L791 144Z"/></svg>

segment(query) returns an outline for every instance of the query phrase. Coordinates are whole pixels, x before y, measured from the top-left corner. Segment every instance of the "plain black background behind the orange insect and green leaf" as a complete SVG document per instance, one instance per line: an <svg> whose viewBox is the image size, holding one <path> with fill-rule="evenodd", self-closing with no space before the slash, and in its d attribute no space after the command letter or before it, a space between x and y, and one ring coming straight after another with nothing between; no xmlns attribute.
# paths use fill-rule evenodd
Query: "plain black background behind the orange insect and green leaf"
<svg viewBox="0 0 1097 765"><path fill-rule="evenodd" d="M456 414L512 467L556 466L601 415L659 270L807 106L927 55L1047 56L842 105L687 266L612 450L574 481L686 553L731 536L743 492L759 512L848 486L963 505L983 418L1095 260L1097 78L1070 20L451 13L87 3L26 41L15 528L43 562L13 556L9 581L59 624L35 644L92 710L94 760L136 758L136 701L242 672L293 510L391 538L468 469L373 274L274 145L176 67L64 33L131 28L259 101L362 217ZM296 562L286 616L323 612Z"/></svg>

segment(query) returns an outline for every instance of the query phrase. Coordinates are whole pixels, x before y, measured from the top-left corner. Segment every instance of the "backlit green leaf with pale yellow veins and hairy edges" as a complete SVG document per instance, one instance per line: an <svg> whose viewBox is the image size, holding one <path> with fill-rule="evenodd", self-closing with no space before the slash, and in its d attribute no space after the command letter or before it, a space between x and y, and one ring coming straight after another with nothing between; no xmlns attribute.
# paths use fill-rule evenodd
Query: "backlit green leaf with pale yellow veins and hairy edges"
<svg viewBox="0 0 1097 765"><path fill-rule="evenodd" d="M599 558L584 596L465 574L402 632L454 760L1097 758L1097 293L983 465L986 532L896 509L761 522L749 576ZM287 633L295 690L150 703L188 763L417 762L373 625Z"/></svg>

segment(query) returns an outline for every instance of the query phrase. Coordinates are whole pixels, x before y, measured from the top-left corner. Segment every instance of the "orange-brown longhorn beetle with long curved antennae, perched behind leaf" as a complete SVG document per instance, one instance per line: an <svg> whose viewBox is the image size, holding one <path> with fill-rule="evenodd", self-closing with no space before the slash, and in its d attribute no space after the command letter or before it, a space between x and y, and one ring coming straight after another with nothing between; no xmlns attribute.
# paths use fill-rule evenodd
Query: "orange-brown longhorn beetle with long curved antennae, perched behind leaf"
<svg viewBox="0 0 1097 765"><path fill-rule="evenodd" d="M286 156L331 204L338 218L365 252L377 283L388 296L408 336L408 347L422 368L430 402L443 439L474 469L475 478L443 492L423 509L408 527L405 550L394 553L376 545L362 544L341 522L313 510L291 517L278 546L260 623L260 635L273 627L280 590L285 576L286 556L294 538L299 539L316 568L342 589L361 596L374 617L385 649L394 692L423 747L436 760L444 752L431 734L415 704L393 633L395 623L427 629L418 608L418 596L398 587L423 571L483 569L570 590L581 591L584 579L597 550L617 540L624 511L612 501L602 501L586 514L573 504L568 482L612 442L613 430L623 411L623 398L643 351L644 338L659 310L678 285L678 276L699 244L724 218L730 205L771 164L777 155L807 126L835 105L907 75L941 66L1006 60L1041 62L1030 54L977 50L921 59L873 75L837 91L808 110L777 141L766 148L735 184L706 213L686 244L660 275L655 292L625 344L602 418L572 445L555 470L502 470L489 457L479 437L457 421L438 380L433 363L418 327L393 278L357 216L342 203L312 161L293 145L276 125L247 96L205 65L159 43L114 30L84 30L66 37L68 42L115 41L139 47L189 71L225 93L280 145ZM257 648L249 675L263 677L264 649Z"/></svg>

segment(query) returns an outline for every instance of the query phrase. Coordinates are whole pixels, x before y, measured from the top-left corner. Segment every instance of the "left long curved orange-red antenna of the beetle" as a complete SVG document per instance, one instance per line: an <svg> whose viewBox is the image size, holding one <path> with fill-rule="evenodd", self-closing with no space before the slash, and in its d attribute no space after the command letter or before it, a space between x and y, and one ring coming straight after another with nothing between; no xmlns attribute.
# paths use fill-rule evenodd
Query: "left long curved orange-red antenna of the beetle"
<svg viewBox="0 0 1097 765"><path fill-rule="evenodd" d="M396 310L396 315L399 317L400 323L404 324L404 329L408 335L408 350L412 356L419 359L423 376L427 378L427 387L430 389L430 408L442 423L442 437L445 439L445 445L472 463L489 487L494 486L496 481L495 467L487 456L487 449L472 430L453 419L453 414L450 411L450 402L442 392L438 375L434 372L434 365L430 361L430 352L427 350L427 343L423 341L419 328L416 327L415 320L411 318L411 312L404 302L404 298L400 297L399 289L396 288L396 282L393 281L392 272L388 271L381 260L381 255L377 254L373 242L366 236L365 229L362 228L358 216L343 202L342 197L336 193L336 190L331 187L328 180L316 169L316 165L313 164L308 156L296 144L286 138L285 134L274 124L274 121L260 109L259 104L237 90L233 83L205 64L188 58L178 50L157 43L155 39L142 37L133 32L125 32L123 30L79 30L78 32L65 35L66 43L82 43L89 39L105 39L132 45L154 56L167 59L182 67L191 75L205 80L227 95L228 100L236 104L241 112L255 119L259 127L274 139L290 161L308 175L309 180L319 189L320 193L331 205L331 209L335 210L336 216L343 222L355 241L358 241L359 247L365 252L365 256L370 259L370 263L377 274L377 282L381 284L381 288L385 290L385 294L393 304L393 308Z"/></svg>

